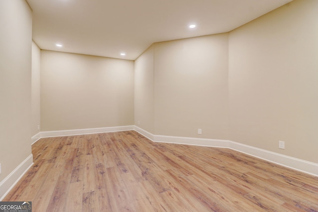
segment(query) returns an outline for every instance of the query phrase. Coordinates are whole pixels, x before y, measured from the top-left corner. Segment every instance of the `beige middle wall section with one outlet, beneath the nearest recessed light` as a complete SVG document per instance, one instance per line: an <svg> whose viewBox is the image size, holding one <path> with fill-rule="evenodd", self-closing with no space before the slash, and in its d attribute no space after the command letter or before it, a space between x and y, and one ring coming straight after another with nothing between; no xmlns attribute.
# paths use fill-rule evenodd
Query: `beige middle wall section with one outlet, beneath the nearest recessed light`
<svg viewBox="0 0 318 212"><path fill-rule="evenodd" d="M227 139L228 34L154 47L155 135Z"/></svg>

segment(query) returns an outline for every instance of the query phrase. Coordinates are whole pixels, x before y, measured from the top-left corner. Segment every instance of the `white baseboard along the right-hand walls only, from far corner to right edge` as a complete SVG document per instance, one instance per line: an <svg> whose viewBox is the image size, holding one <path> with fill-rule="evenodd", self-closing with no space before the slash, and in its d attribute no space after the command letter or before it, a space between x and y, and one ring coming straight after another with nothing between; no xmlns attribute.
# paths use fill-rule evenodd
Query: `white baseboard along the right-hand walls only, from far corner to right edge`
<svg viewBox="0 0 318 212"><path fill-rule="evenodd" d="M256 148L253 146L245 145L235 141L229 140L215 140L215 139L200 139L188 137L175 137L175 136L159 136L153 135L137 126L135 131L155 142L168 142L179 143L188 145L202 145L211 147L230 148L278 165L282 165L297 171L301 171L310 175L318 176L318 164L298 158L290 157L287 155L279 154L272 151Z"/></svg>

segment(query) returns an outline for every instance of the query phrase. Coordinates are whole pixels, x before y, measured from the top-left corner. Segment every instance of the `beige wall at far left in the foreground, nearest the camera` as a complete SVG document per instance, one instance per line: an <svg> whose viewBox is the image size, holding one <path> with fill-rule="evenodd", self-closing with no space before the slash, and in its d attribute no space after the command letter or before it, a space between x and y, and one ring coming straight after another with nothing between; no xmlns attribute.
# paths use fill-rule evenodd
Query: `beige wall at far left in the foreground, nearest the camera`
<svg viewBox="0 0 318 212"><path fill-rule="evenodd" d="M31 155L32 11L0 1L0 182Z"/></svg>

